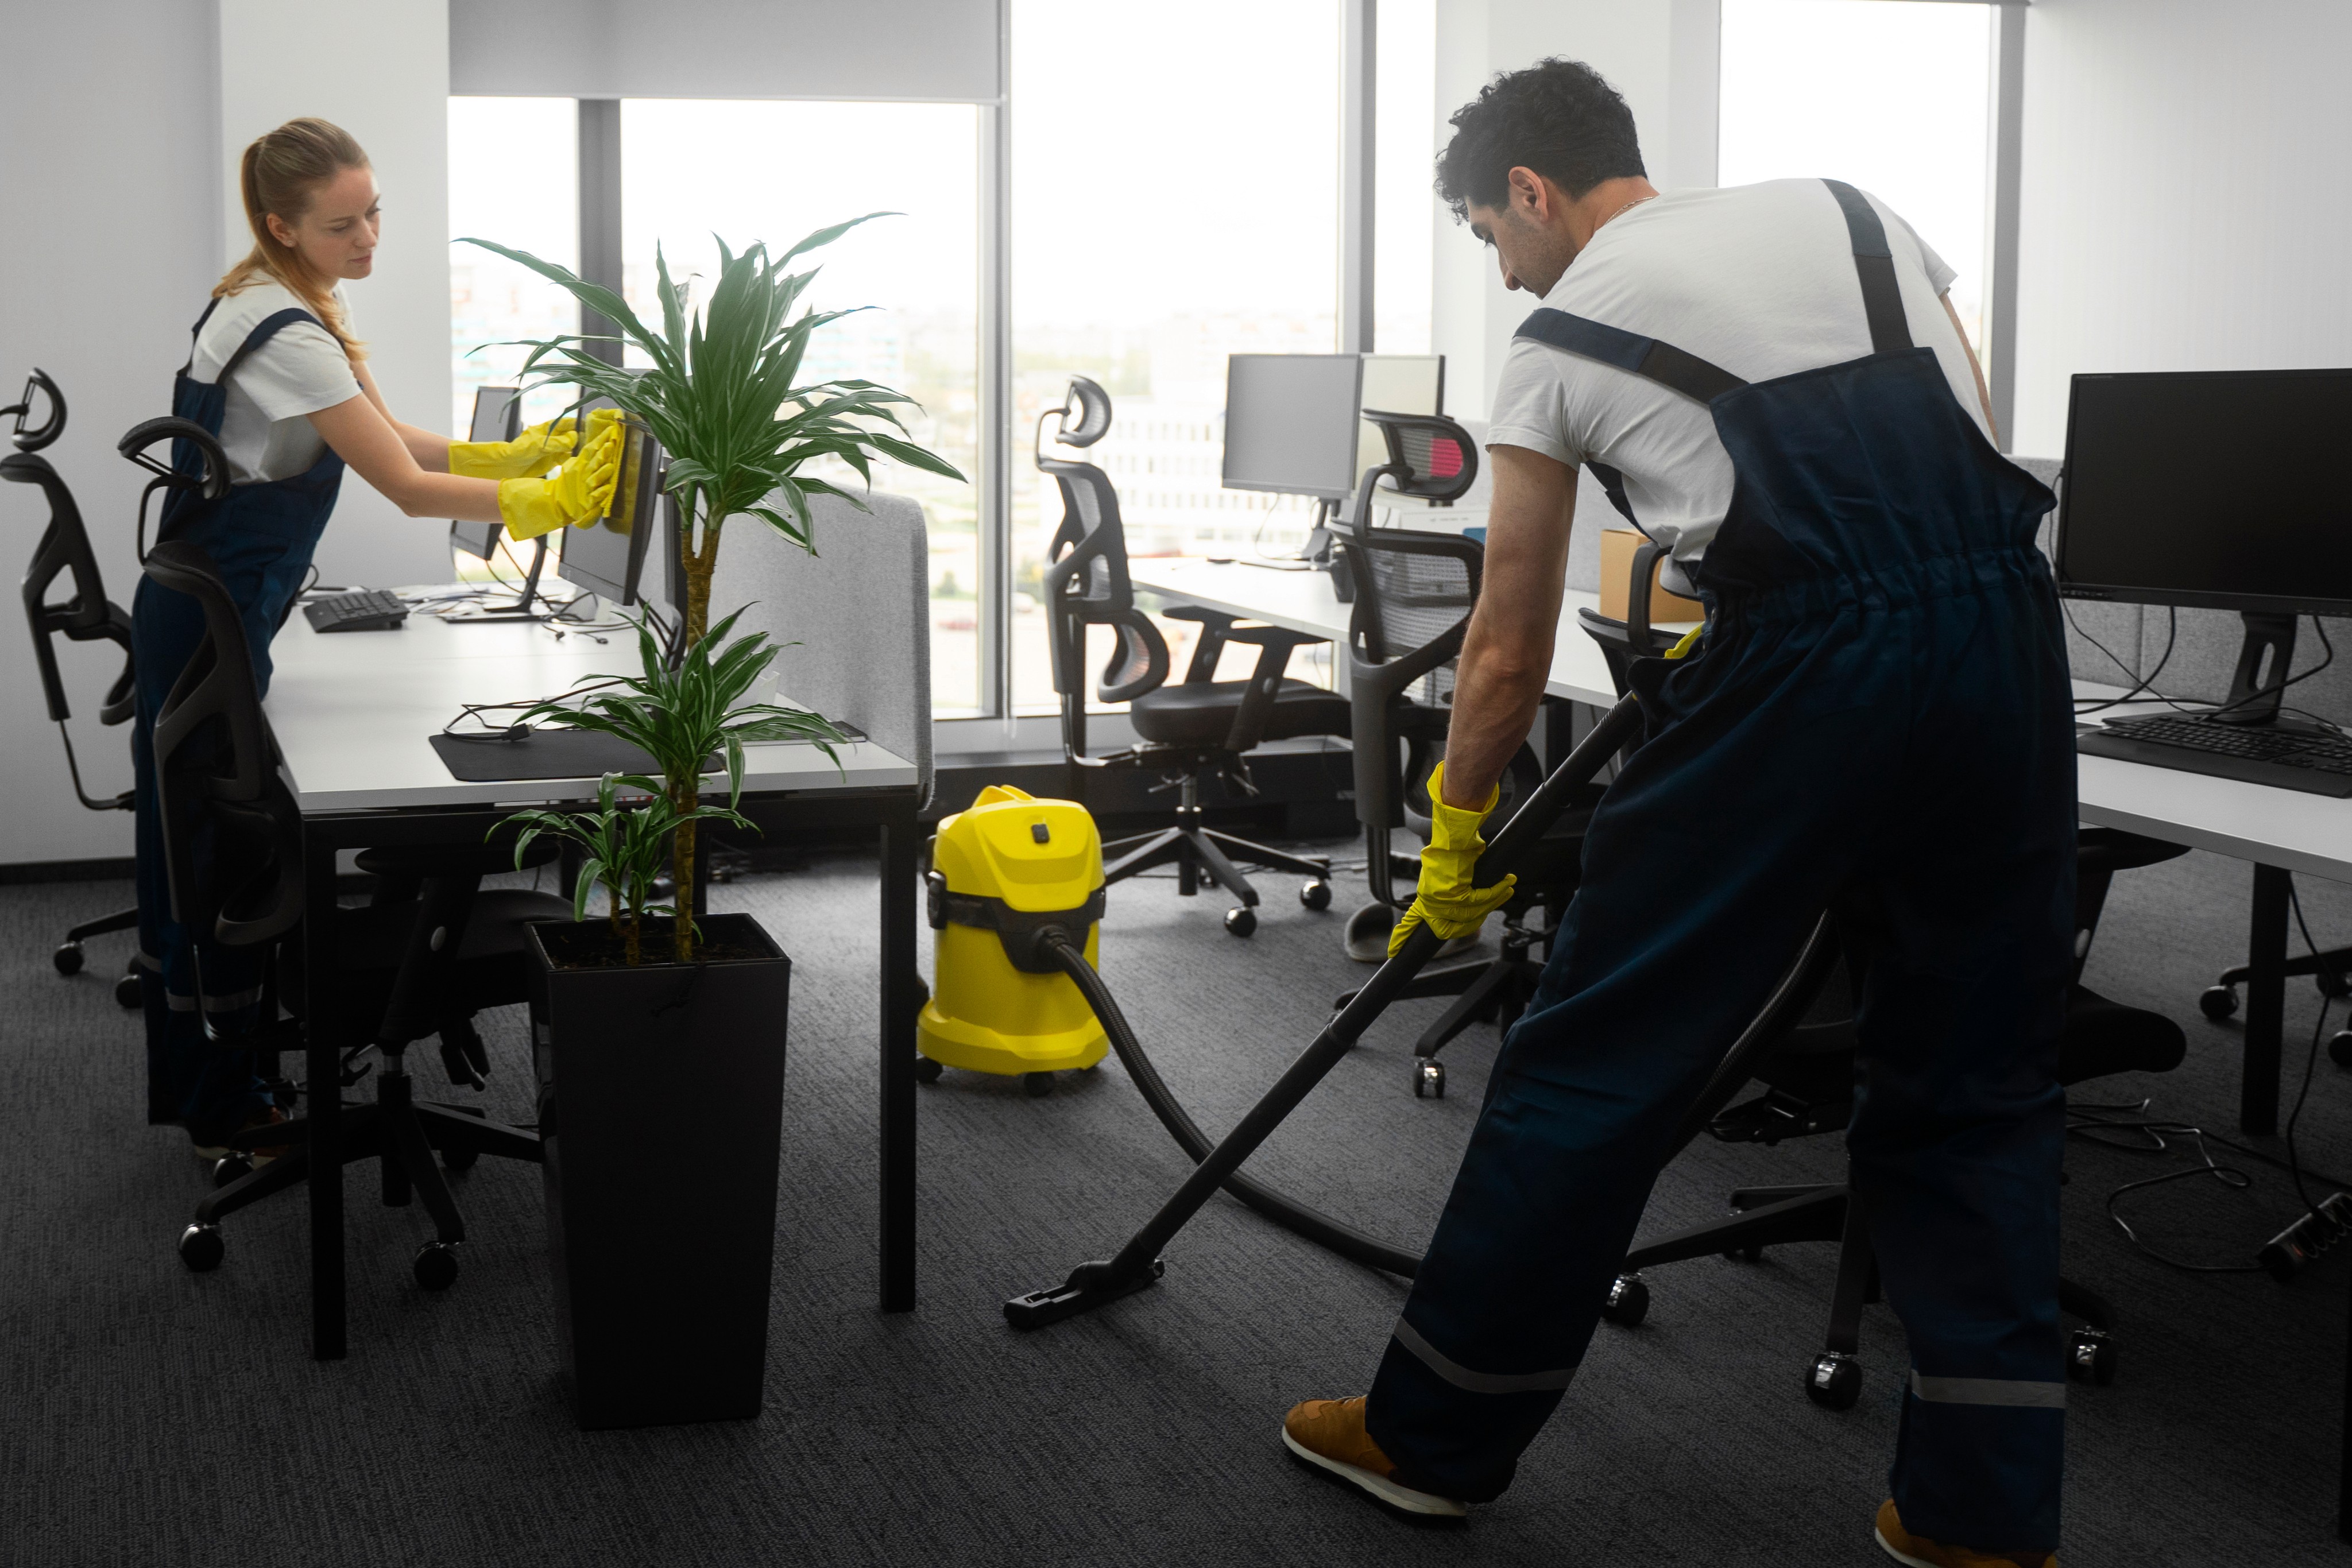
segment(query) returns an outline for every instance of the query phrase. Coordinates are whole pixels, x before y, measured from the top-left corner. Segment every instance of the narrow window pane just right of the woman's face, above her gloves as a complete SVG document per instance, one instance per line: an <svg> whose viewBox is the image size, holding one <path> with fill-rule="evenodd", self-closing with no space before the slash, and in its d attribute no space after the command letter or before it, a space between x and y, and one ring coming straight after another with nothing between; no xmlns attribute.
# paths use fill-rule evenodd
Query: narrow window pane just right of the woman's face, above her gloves
<svg viewBox="0 0 2352 1568"><path fill-rule="evenodd" d="M517 172L529 172L517 179ZM496 240L569 268L581 259L579 103L574 99L449 99L449 237ZM449 247L449 367L466 435L473 393L515 386L517 339L579 331L572 294L480 244ZM562 388L536 393L524 421L557 414Z"/></svg>

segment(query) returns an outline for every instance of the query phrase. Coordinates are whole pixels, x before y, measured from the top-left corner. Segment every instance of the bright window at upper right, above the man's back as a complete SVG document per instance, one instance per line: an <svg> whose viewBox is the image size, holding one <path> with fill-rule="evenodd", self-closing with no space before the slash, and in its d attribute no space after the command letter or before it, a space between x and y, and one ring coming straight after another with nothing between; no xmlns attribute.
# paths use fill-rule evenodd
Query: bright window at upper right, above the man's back
<svg viewBox="0 0 2352 1568"><path fill-rule="evenodd" d="M1990 5L1724 0L1719 179L1844 179L1893 207L1959 277L1985 346Z"/></svg>

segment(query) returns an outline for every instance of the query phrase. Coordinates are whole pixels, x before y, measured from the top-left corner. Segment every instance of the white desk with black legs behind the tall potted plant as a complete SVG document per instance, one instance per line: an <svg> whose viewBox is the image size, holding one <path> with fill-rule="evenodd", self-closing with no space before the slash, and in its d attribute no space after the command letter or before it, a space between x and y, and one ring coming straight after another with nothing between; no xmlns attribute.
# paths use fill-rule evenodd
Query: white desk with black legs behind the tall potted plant
<svg viewBox="0 0 2352 1568"><path fill-rule="evenodd" d="M560 696L583 675L633 672L633 632L607 642L534 623L461 623L412 614L393 632L320 635L292 616L270 642L275 672L266 712L285 778L303 813L303 882L310 914L303 985L332 985L334 867L343 849L369 844L480 844L515 806L595 799L595 778L463 783L428 736L461 703ZM807 823L880 827L880 1157L882 1309L915 1305L915 820L917 769L873 743L835 748L840 769L814 745L746 745L743 809ZM708 839L706 839L708 842ZM696 889L710 879L699 877ZM313 1018L329 1016L313 1009ZM334 1086L346 1041L308 1030L308 1081ZM313 1095L310 1124L310 1354L341 1356L343 1168L341 1107Z"/></svg>

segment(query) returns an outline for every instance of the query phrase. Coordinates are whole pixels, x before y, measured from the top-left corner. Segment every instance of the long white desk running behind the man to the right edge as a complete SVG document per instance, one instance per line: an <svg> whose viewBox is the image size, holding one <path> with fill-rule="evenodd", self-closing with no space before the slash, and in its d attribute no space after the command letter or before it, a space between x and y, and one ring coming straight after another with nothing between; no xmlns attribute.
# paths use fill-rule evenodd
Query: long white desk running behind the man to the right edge
<svg viewBox="0 0 2352 1568"><path fill-rule="evenodd" d="M1348 607L1331 592L1331 578L1322 571L1268 571L1207 559L1131 559L1129 574L1136 588L1190 604L1317 637L1348 635ZM1616 701L1609 665L1599 644L1576 630L1576 611L1583 607L1597 607L1597 597L1571 590L1562 607L1545 693L1609 705ZM2086 698L2119 696L2117 686L2089 682L2074 682L2074 691ZM2126 712L2138 708L2119 708L2114 717ZM2246 983L2239 1124L2249 1133L2277 1131L2279 1013L2286 990L2279 966L2286 961L2288 872L2352 882L2352 799L2176 773L2117 757L2082 757L2077 797L2084 823L2145 832L2152 839L2211 849L2253 865L2246 938L2253 976Z"/></svg>

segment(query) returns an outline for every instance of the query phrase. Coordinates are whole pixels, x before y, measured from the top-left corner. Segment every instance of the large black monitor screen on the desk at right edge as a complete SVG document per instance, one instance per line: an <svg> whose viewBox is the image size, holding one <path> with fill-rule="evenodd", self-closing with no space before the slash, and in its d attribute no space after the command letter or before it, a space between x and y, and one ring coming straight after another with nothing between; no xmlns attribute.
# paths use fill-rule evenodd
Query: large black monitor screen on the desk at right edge
<svg viewBox="0 0 2352 1568"><path fill-rule="evenodd" d="M2060 590L2352 614L2347 428L2352 369L2074 376Z"/></svg>

